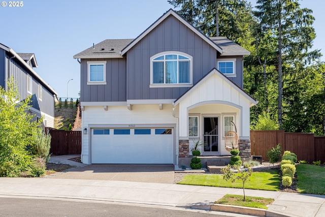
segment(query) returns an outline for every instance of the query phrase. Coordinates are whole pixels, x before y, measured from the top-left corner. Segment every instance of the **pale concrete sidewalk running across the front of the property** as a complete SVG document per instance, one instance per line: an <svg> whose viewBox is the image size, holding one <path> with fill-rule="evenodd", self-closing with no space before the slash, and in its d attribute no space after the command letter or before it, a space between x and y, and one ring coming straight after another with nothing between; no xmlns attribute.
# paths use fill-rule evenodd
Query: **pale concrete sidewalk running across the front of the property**
<svg viewBox="0 0 325 217"><path fill-rule="evenodd" d="M207 209L225 194L242 195L242 189L129 181L0 178L0 196L82 199L160 207ZM245 190L247 196L274 198L270 216L321 217L325 196ZM231 216L244 216L232 214Z"/></svg>

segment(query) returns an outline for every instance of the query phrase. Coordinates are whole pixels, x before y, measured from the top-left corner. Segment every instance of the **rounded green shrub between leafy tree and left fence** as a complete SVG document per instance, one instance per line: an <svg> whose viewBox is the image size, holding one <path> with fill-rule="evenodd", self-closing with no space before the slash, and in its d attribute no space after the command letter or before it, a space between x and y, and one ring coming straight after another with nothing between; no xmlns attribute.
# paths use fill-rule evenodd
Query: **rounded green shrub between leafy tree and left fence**
<svg viewBox="0 0 325 217"><path fill-rule="evenodd" d="M35 141L30 145L30 151L33 155L48 159L51 148L51 135L40 132L35 135Z"/></svg>

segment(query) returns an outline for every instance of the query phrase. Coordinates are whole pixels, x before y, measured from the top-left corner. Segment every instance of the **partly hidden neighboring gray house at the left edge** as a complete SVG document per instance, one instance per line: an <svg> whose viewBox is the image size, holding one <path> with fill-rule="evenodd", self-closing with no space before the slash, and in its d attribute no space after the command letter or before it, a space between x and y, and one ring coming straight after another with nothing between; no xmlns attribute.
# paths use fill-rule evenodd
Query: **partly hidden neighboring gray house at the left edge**
<svg viewBox="0 0 325 217"><path fill-rule="evenodd" d="M34 53L16 53L0 44L0 86L7 88L9 78L18 84L20 100L31 95L30 113L38 120L44 117L44 127L54 128L54 97L56 92L34 70L38 67Z"/></svg>

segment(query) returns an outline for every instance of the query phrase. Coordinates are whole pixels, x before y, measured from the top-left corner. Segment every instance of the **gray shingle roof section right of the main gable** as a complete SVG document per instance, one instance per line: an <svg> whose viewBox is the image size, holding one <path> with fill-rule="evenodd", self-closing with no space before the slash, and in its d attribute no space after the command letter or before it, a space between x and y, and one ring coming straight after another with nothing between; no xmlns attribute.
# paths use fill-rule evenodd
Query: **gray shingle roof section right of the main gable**
<svg viewBox="0 0 325 217"><path fill-rule="evenodd" d="M235 42L225 37L209 37L216 45L222 49L221 55L249 55L250 52Z"/></svg>

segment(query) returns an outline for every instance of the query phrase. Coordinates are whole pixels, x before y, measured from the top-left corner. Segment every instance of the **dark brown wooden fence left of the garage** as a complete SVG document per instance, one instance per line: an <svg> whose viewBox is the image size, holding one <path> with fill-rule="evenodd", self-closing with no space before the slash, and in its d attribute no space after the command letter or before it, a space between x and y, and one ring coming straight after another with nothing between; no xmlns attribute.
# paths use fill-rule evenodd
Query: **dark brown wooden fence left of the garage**
<svg viewBox="0 0 325 217"><path fill-rule="evenodd" d="M81 154L81 131L49 130L50 153L55 155Z"/></svg>

